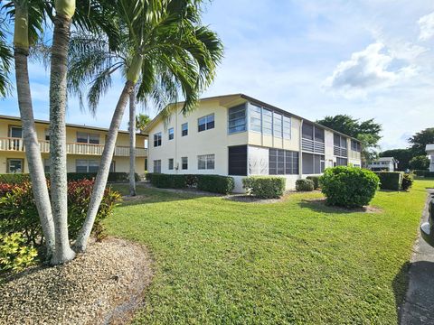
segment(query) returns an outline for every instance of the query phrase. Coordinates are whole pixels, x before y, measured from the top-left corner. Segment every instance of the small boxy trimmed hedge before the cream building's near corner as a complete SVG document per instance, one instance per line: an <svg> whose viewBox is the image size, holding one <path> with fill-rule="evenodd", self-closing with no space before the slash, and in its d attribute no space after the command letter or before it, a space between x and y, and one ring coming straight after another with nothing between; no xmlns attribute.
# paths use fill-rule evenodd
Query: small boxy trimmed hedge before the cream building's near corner
<svg viewBox="0 0 434 325"><path fill-rule="evenodd" d="M285 192L287 180L278 176L250 176L242 179L242 187L259 199L278 199Z"/></svg>

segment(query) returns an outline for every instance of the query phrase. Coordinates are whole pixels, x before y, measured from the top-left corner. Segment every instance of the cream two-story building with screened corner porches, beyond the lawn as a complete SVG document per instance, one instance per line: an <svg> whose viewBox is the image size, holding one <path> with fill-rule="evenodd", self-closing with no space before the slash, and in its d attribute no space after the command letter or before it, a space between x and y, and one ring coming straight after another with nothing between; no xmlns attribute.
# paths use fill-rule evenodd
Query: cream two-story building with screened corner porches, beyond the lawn
<svg viewBox="0 0 434 325"><path fill-rule="evenodd" d="M182 105L145 130L149 172L231 175L241 192L248 175L281 175L294 189L326 167L362 164L356 139L246 95L203 98L188 116Z"/></svg>

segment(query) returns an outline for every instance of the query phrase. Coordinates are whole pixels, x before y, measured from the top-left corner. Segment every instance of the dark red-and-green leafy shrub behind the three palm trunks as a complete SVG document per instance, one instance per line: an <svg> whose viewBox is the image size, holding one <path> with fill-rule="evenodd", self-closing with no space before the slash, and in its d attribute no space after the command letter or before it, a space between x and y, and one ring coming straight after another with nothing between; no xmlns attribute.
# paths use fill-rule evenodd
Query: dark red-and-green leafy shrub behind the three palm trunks
<svg viewBox="0 0 434 325"><path fill-rule="evenodd" d="M68 183L68 230L71 239L77 237L90 203L94 181L81 180ZM0 185L0 189L5 185ZM107 188L99 205L94 227L109 217L117 201L118 192ZM15 184L0 197L0 233L22 233L27 244L42 245L42 228L33 199L32 184Z"/></svg>

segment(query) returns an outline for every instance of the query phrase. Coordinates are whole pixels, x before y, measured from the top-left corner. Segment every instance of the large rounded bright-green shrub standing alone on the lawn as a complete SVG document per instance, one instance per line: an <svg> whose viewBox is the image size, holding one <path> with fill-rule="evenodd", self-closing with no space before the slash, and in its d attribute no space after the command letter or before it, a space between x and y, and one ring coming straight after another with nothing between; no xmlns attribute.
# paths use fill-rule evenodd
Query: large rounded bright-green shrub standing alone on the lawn
<svg viewBox="0 0 434 325"><path fill-rule="evenodd" d="M373 200L380 180L375 173L358 168L327 168L319 178L326 203L345 208L363 207Z"/></svg>

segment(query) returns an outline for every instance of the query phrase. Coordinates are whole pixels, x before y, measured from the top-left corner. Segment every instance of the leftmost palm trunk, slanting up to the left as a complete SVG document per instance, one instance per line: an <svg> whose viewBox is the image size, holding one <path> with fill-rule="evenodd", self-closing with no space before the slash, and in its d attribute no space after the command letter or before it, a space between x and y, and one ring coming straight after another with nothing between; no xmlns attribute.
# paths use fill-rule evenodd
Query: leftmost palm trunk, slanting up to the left
<svg viewBox="0 0 434 325"><path fill-rule="evenodd" d="M27 65L29 55L27 22L27 5L16 5L15 3L14 61L18 107L23 124L25 156L32 180L33 197L41 220L43 237L45 237L47 257L51 258L54 252L54 224L50 195L33 118L32 93Z"/></svg>

